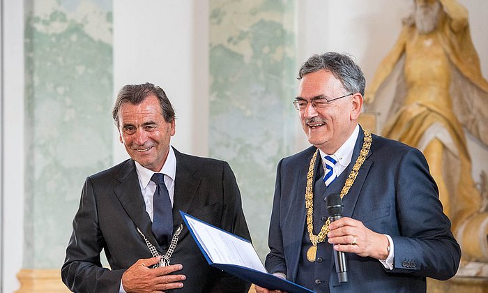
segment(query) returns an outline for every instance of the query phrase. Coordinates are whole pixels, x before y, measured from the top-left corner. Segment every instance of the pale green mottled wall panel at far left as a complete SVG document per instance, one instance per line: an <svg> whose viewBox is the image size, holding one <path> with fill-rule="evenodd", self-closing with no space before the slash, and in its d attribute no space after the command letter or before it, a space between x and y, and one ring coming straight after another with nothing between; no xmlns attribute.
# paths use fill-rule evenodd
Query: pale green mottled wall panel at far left
<svg viewBox="0 0 488 293"><path fill-rule="evenodd" d="M24 268L61 267L84 178L112 164L112 0L26 1Z"/></svg>

